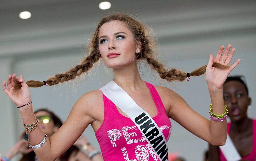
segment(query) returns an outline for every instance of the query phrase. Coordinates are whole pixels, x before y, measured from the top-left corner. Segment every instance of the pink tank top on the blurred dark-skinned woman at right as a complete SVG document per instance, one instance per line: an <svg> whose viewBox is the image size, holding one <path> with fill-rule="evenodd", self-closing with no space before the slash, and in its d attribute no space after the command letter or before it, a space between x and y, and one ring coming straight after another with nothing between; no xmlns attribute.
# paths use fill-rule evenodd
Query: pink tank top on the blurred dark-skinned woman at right
<svg viewBox="0 0 256 161"><path fill-rule="evenodd" d="M231 126L231 123L228 123L228 134L230 131L230 126ZM249 155L247 155L246 157L243 157L242 159L255 161L256 159L256 120L255 119L252 120L252 135L253 135L252 151ZM225 156L221 152L220 148L219 148L219 152L220 152L220 161L227 161Z"/></svg>

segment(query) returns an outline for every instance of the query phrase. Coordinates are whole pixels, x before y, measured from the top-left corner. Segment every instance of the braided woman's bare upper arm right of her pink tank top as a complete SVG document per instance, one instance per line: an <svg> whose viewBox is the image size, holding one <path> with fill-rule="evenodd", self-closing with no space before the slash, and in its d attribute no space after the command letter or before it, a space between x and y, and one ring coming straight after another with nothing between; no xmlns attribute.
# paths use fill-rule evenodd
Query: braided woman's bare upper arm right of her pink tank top
<svg viewBox="0 0 256 161"><path fill-rule="evenodd" d="M210 121L189 107L187 102L176 92L168 88L166 90L169 95L167 96L169 102L168 117L178 122L194 135L210 142Z"/></svg>

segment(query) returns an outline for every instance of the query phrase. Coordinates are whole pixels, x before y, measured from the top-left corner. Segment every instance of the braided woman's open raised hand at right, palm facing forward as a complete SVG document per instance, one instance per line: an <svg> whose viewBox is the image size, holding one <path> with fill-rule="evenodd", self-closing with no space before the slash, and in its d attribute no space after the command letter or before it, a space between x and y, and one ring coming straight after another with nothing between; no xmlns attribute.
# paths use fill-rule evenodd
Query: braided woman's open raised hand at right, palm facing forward
<svg viewBox="0 0 256 161"><path fill-rule="evenodd" d="M210 59L206 67L206 75L205 79L208 85L208 89L211 91L220 91L222 92L222 86L227 79L229 73L239 64L240 59L238 59L234 64L230 65L230 62L232 60L232 57L235 52L235 48L231 49L231 52L229 54L229 51L231 49L231 44L228 44L225 52L223 53L224 50L224 45L220 47L220 50L218 54L216 55L215 59L212 54L210 54ZM229 66L226 69L221 69L218 67L213 67L212 64L220 63L222 65Z"/></svg>

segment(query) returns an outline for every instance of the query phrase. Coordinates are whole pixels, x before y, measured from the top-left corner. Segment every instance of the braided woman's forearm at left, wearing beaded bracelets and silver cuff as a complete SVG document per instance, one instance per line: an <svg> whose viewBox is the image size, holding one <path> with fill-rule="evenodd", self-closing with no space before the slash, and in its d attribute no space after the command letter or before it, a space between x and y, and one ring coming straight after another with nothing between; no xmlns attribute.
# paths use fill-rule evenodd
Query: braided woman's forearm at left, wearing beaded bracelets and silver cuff
<svg viewBox="0 0 256 161"><path fill-rule="evenodd" d="M19 109L19 110L20 110L20 114L24 124L30 125L31 123L35 122L36 117L34 114L32 103L22 107L22 109ZM29 132L28 134L29 143L31 145L38 145L44 140L44 136L45 136L44 132L38 126L34 130ZM33 150L36 153L36 156L38 157L39 160L54 160L52 159L53 157L51 156L51 143L49 138L47 138L47 141L43 146Z"/></svg>

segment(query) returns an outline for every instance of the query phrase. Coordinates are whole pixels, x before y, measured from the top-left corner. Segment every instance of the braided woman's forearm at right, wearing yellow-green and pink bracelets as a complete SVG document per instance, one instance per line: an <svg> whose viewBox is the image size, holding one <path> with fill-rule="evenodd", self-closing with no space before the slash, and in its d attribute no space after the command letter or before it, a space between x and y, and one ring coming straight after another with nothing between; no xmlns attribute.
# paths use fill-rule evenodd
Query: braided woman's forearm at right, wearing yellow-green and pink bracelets
<svg viewBox="0 0 256 161"><path fill-rule="evenodd" d="M212 112L216 115L223 114L225 112L224 100L223 100L223 89L211 90L209 89ZM224 145L227 139L227 120L214 121L210 120L209 134L211 138L211 144L213 145Z"/></svg>

